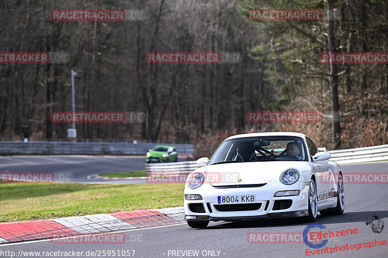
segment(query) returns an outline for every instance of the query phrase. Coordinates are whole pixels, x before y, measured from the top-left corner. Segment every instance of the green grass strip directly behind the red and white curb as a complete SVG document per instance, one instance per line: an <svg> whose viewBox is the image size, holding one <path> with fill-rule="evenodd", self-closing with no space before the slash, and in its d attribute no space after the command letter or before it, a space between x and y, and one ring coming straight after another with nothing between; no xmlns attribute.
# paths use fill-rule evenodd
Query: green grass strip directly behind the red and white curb
<svg viewBox="0 0 388 258"><path fill-rule="evenodd" d="M0 183L0 222L183 206L182 183Z"/></svg>

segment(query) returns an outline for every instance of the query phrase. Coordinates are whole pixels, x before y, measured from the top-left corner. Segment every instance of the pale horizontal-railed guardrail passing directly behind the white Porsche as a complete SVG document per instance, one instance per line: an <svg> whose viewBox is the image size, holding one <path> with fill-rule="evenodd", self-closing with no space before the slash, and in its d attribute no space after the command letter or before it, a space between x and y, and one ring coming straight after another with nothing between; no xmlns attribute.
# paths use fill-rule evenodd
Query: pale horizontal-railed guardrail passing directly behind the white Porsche
<svg viewBox="0 0 388 258"><path fill-rule="evenodd" d="M320 152L326 151L326 148L318 148ZM331 161L337 162L339 165L350 164L366 161L379 161L388 160L388 144L363 147L356 149L345 149L337 151L326 151L331 155ZM195 161L177 162L177 163L164 163L164 164L146 164L146 173L158 174L167 173L172 174L176 172L189 174L193 170L201 167L195 163Z"/></svg>

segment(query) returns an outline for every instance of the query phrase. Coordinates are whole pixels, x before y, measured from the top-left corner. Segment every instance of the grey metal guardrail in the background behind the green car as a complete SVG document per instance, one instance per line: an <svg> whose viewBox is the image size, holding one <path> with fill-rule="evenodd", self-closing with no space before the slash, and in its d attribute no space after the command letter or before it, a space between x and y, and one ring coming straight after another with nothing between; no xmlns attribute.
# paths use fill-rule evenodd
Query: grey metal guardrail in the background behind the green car
<svg viewBox="0 0 388 258"><path fill-rule="evenodd" d="M157 143L134 144L132 142L60 142L60 141L30 141L14 142L0 141L0 155L9 154L62 154L62 155L146 155L149 149ZM192 154L192 144L174 145L179 154Z"/></svg>

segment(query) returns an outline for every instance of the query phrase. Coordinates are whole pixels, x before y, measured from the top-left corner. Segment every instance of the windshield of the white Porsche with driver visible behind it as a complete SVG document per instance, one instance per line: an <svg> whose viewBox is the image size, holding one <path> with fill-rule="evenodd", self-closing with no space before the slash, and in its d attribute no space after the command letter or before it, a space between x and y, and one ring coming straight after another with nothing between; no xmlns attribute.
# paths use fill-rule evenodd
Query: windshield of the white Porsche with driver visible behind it
<svg viewBox="0 0 388 258"><path fill-rule="evenodd" d="M209 164L258 161L308 161L301 137L243 137L226 140Z"/></svg>

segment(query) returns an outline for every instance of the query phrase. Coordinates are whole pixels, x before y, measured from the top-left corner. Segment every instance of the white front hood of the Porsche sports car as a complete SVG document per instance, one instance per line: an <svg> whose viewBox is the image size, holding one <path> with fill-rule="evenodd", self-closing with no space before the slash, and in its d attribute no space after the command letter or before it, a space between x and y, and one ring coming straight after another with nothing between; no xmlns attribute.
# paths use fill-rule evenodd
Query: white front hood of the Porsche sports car
<svg viewBox="0 0 388 258"><path fill-rule="evenodd" d="M226 163L206 166L213 186L268 183L289 168L297 168L303 161L262 161ZM241 182L238 182L241 180Z"/></svg>

